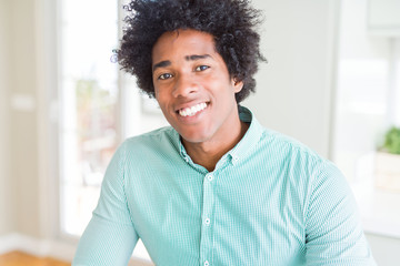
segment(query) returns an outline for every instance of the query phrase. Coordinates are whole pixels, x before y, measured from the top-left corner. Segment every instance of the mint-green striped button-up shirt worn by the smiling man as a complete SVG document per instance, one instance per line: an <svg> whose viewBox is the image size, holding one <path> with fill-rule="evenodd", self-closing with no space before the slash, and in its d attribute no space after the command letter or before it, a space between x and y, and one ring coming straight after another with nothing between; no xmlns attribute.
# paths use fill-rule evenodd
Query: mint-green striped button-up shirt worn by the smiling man
<svg viewBox="0 0 400 266"><path fill-rule="evenodd" d="M208 172L177 131L116 152L72 265L127 265L142 239L156 265L376 265L343 175L259 124Z"/></svg>

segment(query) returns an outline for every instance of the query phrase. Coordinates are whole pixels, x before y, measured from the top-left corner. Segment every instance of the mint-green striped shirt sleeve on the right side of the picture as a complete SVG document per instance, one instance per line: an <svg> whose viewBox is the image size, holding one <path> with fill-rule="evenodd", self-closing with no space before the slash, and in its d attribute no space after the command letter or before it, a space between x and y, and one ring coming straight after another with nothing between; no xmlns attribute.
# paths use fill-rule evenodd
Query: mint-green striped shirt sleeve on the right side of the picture
<svg viewBox="0 0 400 266"><path fill-rule="evenodd" d="M340 171L323 163L312 181L306 223L307 265L376 265L352 192Z"/></svg>

